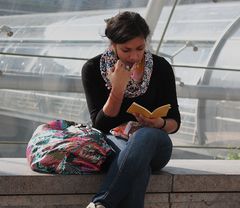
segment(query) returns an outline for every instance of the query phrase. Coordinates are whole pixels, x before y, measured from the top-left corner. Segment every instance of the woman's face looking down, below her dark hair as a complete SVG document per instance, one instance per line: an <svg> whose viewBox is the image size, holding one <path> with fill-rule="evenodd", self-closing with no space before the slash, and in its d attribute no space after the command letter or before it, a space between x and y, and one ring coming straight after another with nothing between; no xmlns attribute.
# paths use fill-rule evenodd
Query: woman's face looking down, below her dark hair
<svg viewBox="0 0 240 208"><path fill-rule="evenodd" d="M123 63L132 66L141 62L146 48L146 41L143 37L136 37L125 43L113 43L113 48Z"/></svg>

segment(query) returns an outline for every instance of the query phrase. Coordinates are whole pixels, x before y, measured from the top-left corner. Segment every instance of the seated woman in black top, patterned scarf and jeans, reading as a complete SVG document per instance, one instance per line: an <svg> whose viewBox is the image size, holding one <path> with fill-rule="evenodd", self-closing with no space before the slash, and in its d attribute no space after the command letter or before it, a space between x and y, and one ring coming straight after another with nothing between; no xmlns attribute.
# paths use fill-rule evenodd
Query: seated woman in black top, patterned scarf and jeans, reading
<svg viewBox="0 0 240 208"><path fill-rule="evenodd" d="M180 126L175 78L168 62L147 50L150 31L138 13L119 13L106 22L111 44L86 62L82 81L93 127L106 133L115 156L87 208L143 208L151 172L170 160L168 134ZM126 112L133 102L150 111L164 104L171 104L171 109L164 118L149 119ZM128 140L109 133L131 121L141 128Z"/></svg>

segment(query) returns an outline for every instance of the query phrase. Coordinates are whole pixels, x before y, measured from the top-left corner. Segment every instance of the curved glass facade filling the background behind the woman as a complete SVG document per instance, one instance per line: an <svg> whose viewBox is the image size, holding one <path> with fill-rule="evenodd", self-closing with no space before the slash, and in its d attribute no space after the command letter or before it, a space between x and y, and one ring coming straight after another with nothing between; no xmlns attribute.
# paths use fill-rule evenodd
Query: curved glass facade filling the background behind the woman
<svg viewBox="0 0 240 208"><path fill-rule="evenodd" d="M40 123L90 122L81 68L109 44L104 19L125 10L146 17L150 50L174 68L182 126L171 135L173 157L227 158L238 149L239 0L0 3L0 157L24 157Z"/></svg>

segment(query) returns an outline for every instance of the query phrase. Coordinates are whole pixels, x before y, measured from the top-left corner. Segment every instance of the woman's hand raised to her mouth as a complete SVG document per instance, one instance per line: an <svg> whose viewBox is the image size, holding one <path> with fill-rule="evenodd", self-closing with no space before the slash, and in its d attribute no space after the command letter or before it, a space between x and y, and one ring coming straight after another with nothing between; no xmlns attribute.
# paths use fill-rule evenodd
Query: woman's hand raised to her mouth
<svg viewBox="0 0 240 208"><path fill-rule="evenodd" d="M116 93L124 92L131 77L131 69L127 70L125 64L118 60L114 68L108 72L107 77Z"/></svg>

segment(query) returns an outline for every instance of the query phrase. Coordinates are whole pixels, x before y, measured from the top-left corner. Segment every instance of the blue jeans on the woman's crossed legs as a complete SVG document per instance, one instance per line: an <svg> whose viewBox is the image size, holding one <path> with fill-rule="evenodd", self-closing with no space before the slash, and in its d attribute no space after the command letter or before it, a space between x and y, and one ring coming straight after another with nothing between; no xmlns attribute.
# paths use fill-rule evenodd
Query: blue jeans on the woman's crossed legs
<svg viewBox="0 0 240 208"><path fill-rule="evenodd" d="M170 137L161 129L144 127L127 142L112 135L107 135L107 141L116 155L93 202L101 202L106 208L143 208L151 172L170 160Z"/></svg>

